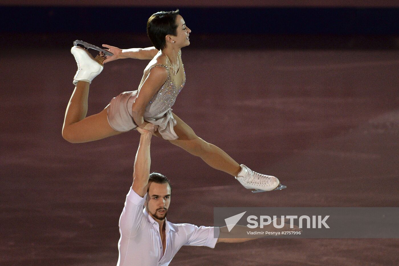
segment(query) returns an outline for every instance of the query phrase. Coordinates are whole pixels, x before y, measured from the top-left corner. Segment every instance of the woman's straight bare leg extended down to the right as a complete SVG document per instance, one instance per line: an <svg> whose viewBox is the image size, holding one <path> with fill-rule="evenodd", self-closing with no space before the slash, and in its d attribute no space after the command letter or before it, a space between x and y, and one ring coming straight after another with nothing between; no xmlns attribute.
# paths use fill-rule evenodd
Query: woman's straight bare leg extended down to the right
<svg viewBox="0 0 399 266"><path fill-rule="evenodd" d="M177 124L173 127L178 139L170 141L176 146L179 146L192 155L201 157L209 166L237 176L241 171L240 165L234 161L227 153L211 143L207 143L199 138L194 131L182 119L173 113Z"/></svg>

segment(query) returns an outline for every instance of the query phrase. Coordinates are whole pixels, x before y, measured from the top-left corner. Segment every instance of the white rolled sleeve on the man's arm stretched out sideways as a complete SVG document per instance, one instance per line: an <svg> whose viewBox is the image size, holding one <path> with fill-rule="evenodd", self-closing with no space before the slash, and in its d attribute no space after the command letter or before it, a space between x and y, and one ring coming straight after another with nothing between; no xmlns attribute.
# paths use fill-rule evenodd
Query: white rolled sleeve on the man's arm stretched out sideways
<svg viewBox="0 0 399 266"><path fill-rule="evenodd" d="M187 233L185 246L208 246L214 248L219 238L219 227L196 226L194 224L180 224Z"/></svg>

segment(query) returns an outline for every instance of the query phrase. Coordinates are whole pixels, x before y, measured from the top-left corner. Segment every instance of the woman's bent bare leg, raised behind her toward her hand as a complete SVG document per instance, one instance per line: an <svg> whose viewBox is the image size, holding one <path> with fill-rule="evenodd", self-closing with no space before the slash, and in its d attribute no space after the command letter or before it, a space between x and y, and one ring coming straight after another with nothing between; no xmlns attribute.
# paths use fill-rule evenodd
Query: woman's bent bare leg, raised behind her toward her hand
<svg viewBox="0 0 399 266"><path fill-rule="evenodd" d="M65 112L62 136L71 143L82 143L104 139L120 132L108 123L107 108L100 113L86 117L89 83L79 81L69 100Z"/></svg>

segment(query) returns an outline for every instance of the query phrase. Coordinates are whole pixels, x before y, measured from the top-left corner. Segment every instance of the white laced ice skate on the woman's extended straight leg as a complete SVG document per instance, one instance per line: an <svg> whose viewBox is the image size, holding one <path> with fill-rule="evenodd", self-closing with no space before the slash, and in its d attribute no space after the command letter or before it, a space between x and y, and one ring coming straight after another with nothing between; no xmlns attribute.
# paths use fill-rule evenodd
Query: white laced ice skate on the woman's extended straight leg
<svg viewBox="0 0 399 266"><path fill-rule="evenodd" d="M254 189L252 191L253 193L281 190L286 188L286 186L280 184L280 181L277 179L277 177L259 174L252 171L245 165L240 166L241 172L237 177L235 177L235 179L237 179L246 189Z"/></svg>

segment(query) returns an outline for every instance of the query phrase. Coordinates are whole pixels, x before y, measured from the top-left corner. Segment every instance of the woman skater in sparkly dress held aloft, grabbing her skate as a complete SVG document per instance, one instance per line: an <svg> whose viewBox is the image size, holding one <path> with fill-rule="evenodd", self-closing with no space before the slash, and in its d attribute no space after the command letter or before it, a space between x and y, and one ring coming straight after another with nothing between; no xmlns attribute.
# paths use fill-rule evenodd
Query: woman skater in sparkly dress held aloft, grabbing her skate
<svg viewBox="0 0 399 266"><path fill-rule="evenodd" d="M136 127L155 131L155 135L169 140L205 163L234 176L245 188L255 191L282 189L279 179L256 173L239 165L227 153L199 138L176 114L172 113L178 93L184 86L186 74L181 48L190 45L191 30L179 10L158 12L147 22L147 34L154 47L120 50L109 48L113 56L104 59L103 52L93 58L87 50L73 46L78 71L73 79L76 86L69 100L62 129L64 139L71 143L95 141ZM103 63L120 58L151 60L136 91L126 91L113 98L103 111L86 117L89 85L103 70ZM155 125L155 127L154 127Z"/></svg>

